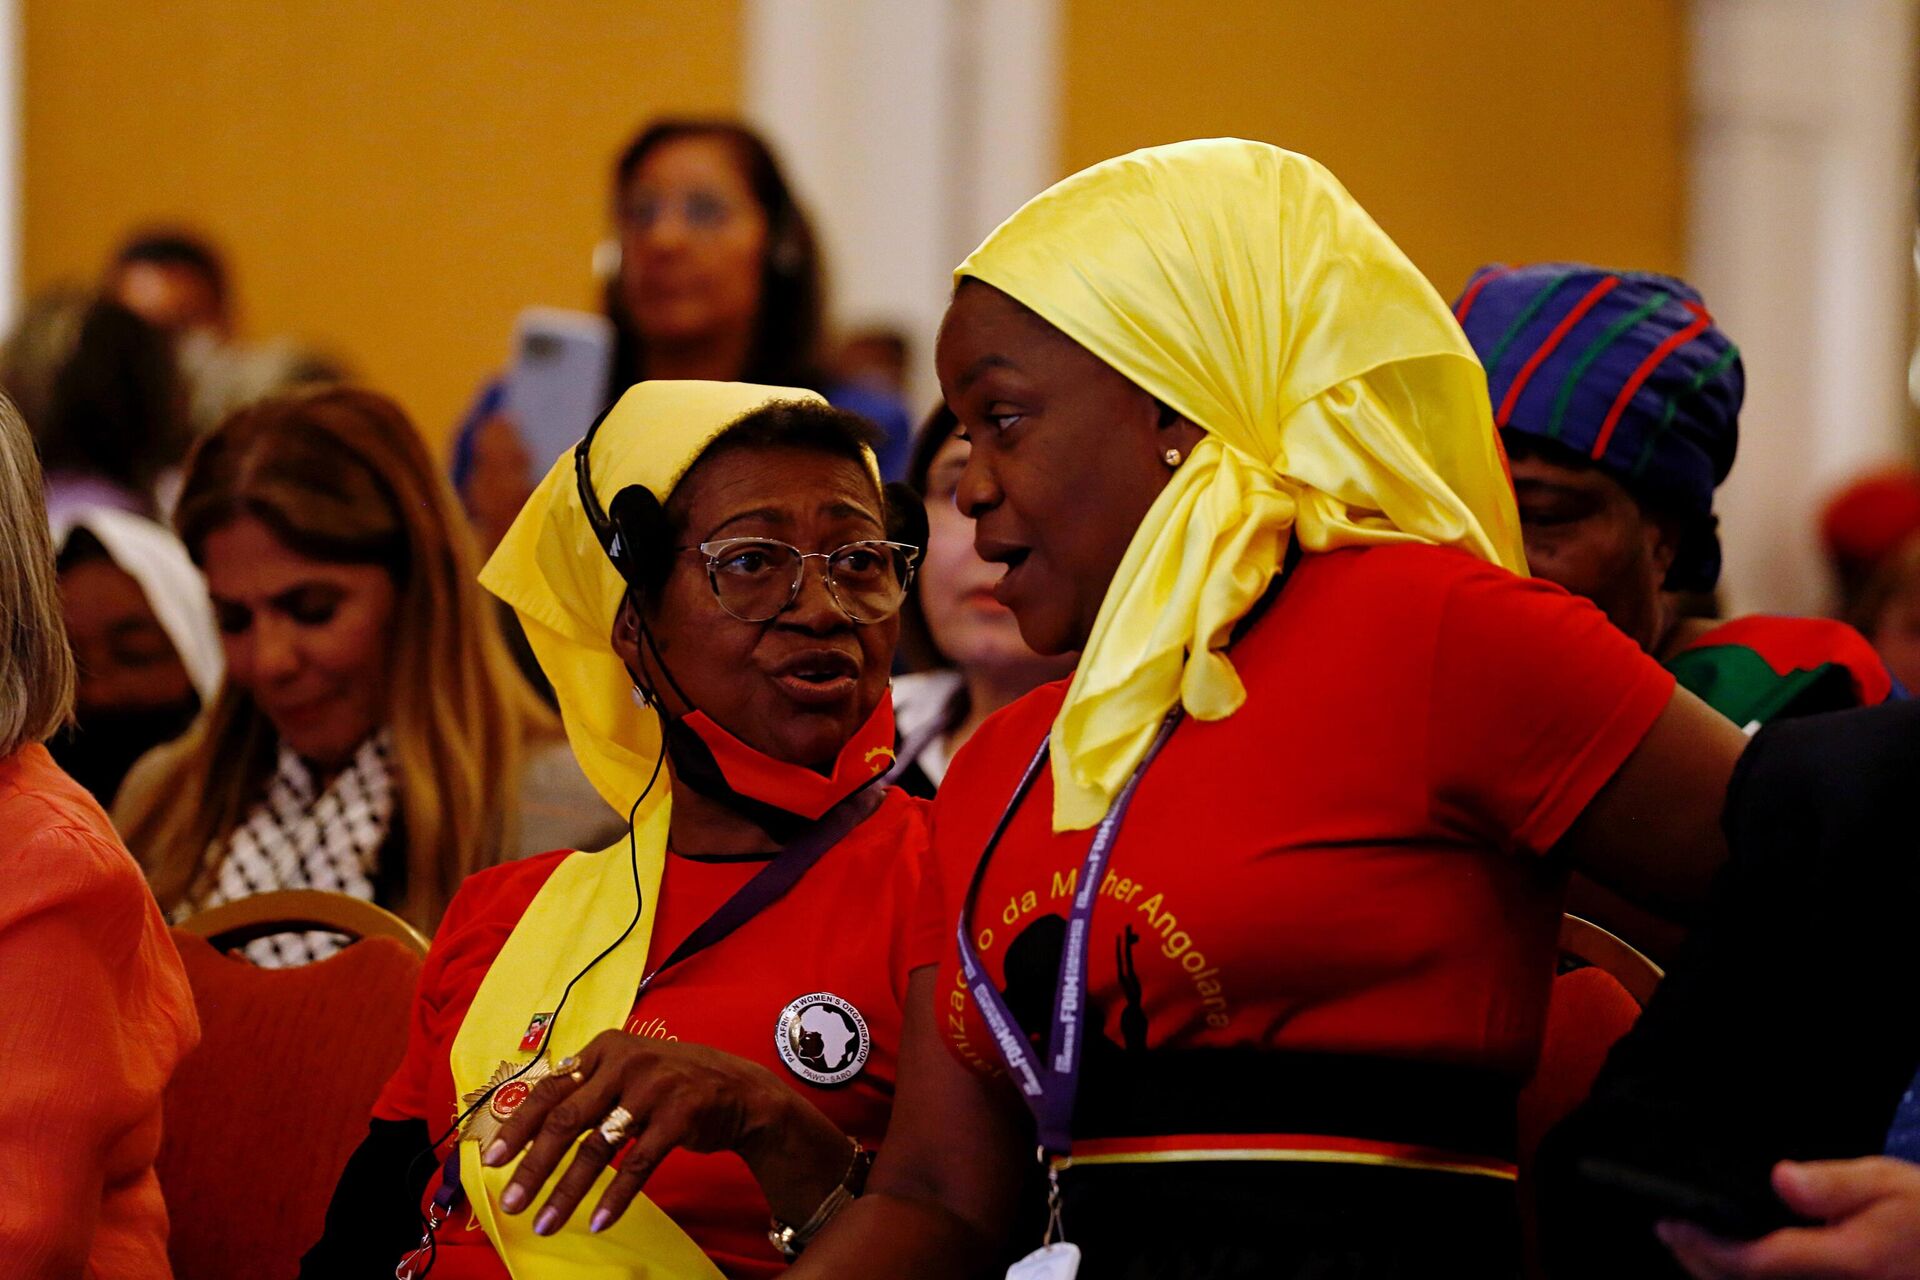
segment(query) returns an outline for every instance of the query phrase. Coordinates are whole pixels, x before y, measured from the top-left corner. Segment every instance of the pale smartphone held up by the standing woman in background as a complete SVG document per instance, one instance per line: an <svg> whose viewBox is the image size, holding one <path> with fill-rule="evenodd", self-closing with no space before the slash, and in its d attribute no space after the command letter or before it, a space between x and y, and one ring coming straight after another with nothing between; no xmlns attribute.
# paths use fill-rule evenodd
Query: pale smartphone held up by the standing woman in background
<svg viewBox="0 0 1920 1280"><path fill-rule="evenodd" d="M612 324L591 311L528 307L513 326L507 413L540 478L605 409Z"/></svg>

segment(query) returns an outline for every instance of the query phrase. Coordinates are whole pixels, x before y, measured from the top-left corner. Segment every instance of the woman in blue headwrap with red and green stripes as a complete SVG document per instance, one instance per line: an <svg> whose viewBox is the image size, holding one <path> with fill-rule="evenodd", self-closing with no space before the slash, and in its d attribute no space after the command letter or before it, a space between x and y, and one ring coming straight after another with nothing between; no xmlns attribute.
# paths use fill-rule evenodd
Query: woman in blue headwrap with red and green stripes
<svg viewBox="0 0 1920 1280"><path fill-rule="evenodd" d="M1690 284L1582 263L1482 267L1453 305L1513 461L1526 566L1599 604L1753 733L1872 706L1885 666L1826 618L1686 618L1720 580L1713 491L1734 466L1745 370Z"/></svg>

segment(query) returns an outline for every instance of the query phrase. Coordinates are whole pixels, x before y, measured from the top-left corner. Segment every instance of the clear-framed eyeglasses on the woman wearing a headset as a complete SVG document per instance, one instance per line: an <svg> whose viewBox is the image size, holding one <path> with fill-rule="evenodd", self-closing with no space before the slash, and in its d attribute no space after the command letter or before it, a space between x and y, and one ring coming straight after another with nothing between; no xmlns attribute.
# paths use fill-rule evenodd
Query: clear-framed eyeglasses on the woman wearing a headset
<svg viewBox="0 0 1920 1280"><path fill-rule="evenodd" d="M920 547L889 541L847 543L839 551L801 551L770 537L722 537L699 547L707 583L741 622L770 622L799 595L808 560L824 560L828 595L854 622L885 622L900 612L920 564Z"/></svg>

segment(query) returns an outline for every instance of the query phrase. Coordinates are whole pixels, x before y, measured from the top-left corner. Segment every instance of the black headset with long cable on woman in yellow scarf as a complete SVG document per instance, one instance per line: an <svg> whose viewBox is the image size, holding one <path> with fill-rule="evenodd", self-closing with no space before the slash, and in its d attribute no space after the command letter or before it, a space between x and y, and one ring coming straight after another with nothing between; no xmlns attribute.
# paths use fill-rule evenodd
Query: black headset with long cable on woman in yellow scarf
<svg viewBox="0 0 1920 1280"><path fill-rule="evenodd" d="M672 572L674 524L668 518L666 509L660 505L660 499L655 497L653 489L649 489L643 484L626 486L624 489L614 493L612 503L609 503L607 507L601 507L599 495L593 491L593 468L589 461L593 449L593 436L599 432L601 422L607 420L607 415L612 413L612 409L614 409L612 405L601 409L601 415L593 418L591 426L588 426L588 434L580 438L578 445L574 445L574 487L580 491L580 509L588 516L588 526L593 530L593 537L607 553L607 558L620 574L620 580L626 583L624 599L634 608L636 622L639 624L641 643L653 652L653 660L655 664L659 664L660 674L666 676L666 683L674 689L674 695L682 700L684 706L691 708L693 702L687 699L685 693L682 693L680 681L674 679L672 670L660 656L660 647L653 639L653 631L647 628L645 610L641 608L641 601L647 597L657 597L660 587L666 585L666 576ZM881 486L881 503L885 509L887 537L891 541L908 543L912 547L927 545L927 509L925 503L922 503L920 495L910 486L904 486L900 482ZM422 1157L430 1157L440 1148L442 1142L459 1132L461 1125L465 1125L474 1111L488 1105L493 1094L497 1094L503 1086L511 1084L513 1080L518 1080L522 1075L532 1071L534 1063L538 1063L541 1057L547 1055L547 1046L553 1044L555 1029L561 1023L561 1011L566 1007L566 998L572 996L574 984L578 984L580 979L591 973L593 965L612 956L620 948L620 944L626 942L628 936L632 936L634 929L639 927L645 896L641 894L639 889L639 837L634 831L634 823L639 816L639 806L645 804L647 796L653 794L653 787L660 781L660 768L666 764L666 735L668 735L666 712L664 708L659 708L659 697L651 689L645 689L641 697L645 697L651 704L657 706L657 714L660 718L660 748L653 756L653 771L647 775L647 785L641 789L639 796L634 798L632 808L628 808L626 812L626 852L628 852L628 867L634 875L634 917L626 923L626 929L620 931L620 936L609 942L599 956L589 960L586 967L580 969L580 973L576 973L566 981L564 990L561 990L561 1000L553 1007L553 1017L547 1021L547 1031L540 1040L540 1052L536 1052L530 1059L526 1059L524 1067L509 1075L505 1080L499 1080L499 1084L493 1084L480 1098L476 1098L472 1105L468 1105L453 1119L453 1125L449 1125L445 1132L442 1132L438 1138L426 1144L422 1151L419 1151L411 1161L407 1161L407 1174L403 1180L403 1188L411 1186L413 1171L419 1167ZM691 735L691 739L693 741L689 743L689 747L693 743L699 743L697 735ZM718 762L714 762L712 754L705 750L705 745L687 754L691 756L687 760L689 766L687 771L691 773L691 777L685 779L689 785L707 783L728 789L726 779L720 775ZM710 777L707 775L708 770ZM749 810L745 812L745 816L755 819L768 835L774 835L776 839L785 839L785 835L791 833L793 829L791 814L785 814L783 810L778 810L770 804L751 800L749 796L737 796L737 793L735 793L735 802L739 802L743 810ZM426 1245L426 1263L417 1272L417 1278L424 1280L426 1274L434 1268L434 1261L440 1255L440 1245L434 1240L436 1224L424 1213L420 1215L420 1224L424 1228L422 1242Z"/></svg>

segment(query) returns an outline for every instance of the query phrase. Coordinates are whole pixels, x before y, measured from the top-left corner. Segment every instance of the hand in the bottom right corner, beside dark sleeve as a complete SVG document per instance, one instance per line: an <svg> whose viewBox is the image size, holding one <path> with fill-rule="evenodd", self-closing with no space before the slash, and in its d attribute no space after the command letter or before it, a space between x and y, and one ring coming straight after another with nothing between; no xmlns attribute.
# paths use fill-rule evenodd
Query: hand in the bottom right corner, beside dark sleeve
<svg viewBox="0 0 1920 1280"><path fill-rule="evenodd" d="M1661 1240L1701 1280L1920 1278L1920 1167L1872 1155L1774 1167L1774 1190L1824 1226L1789 1226L1734 1242L1688 1222L1661 1222Z"/></svg>

